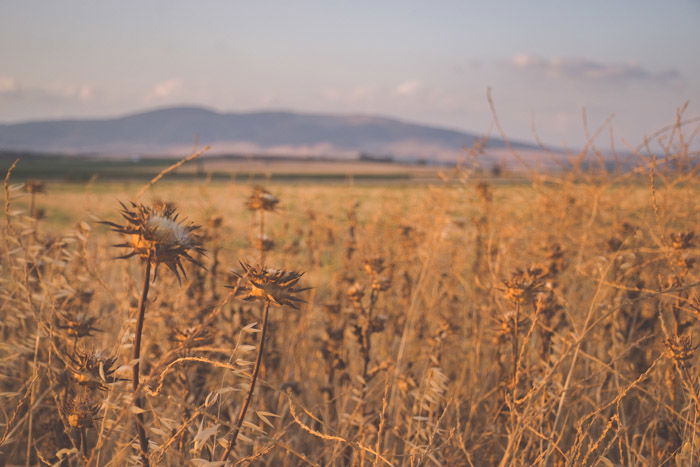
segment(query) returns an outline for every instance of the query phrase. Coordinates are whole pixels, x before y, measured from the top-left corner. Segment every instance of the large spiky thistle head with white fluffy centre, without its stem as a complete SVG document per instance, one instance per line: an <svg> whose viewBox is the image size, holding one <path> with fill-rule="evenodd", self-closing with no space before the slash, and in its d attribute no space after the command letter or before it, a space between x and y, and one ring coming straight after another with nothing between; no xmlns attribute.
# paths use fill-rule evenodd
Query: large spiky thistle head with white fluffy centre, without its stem
<svg viewBox="0 0 700 467"><path fill-rule="evenodd" d="M103 221L114 232L126 237L124 243L115 245L128 248L131 251L118 259L139 256L141 259L151 261L151 264L165 264L180 280L180 272L187 275L182 260L204 267L199 261L190 256L190 252L204 254L202 237L197 232L200 227L192 223L185 223L178 219L179 214L175 208L167 203L159 203L158 206L149 207L143 204L131 202L129 206L120 203L121 215L125 223L123 225L114 222Z"/></svg>

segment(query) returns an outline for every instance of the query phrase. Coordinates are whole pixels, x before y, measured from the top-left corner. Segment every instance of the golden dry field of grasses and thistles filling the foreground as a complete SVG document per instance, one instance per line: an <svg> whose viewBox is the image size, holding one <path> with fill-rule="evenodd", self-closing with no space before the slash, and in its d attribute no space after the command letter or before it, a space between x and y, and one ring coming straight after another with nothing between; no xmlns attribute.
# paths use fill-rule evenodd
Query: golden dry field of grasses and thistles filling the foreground
<svg viewBox="0 0 700 467"><path fill-rule="evenodd" d="M518 184L8 170L0 464L697 465L688 128Z"/></svg>

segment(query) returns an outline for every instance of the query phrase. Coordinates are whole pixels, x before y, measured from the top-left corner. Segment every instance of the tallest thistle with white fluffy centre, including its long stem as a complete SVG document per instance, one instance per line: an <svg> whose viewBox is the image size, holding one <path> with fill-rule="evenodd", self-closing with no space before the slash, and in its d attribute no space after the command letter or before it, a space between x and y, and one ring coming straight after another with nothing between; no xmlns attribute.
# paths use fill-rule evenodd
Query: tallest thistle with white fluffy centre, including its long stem
<svg viewBox="0 0 700 467"><path fill-rule="evenodd" d="M180 272L186 277L182 260L187 260L199 267L204 267L201 263L190 256L189 252L204 254L202 238L197 234L200 229L198 225L184 223L178 220L179 214L173 205L168 203L158 203L155 207L148 207L143 204L130 203L122 206L121 215L125 220L124 225L114 222L103 221L112 228L114 232L126 237L124 243L115 245L120 248L128 248L131 251L117 259L127 259L132 256L139 256L145 263L143 288L139 300L139 311L136 321L136 331L134 333L134 353L133 359L136 361L133 367L133 393L134 404L140 409L136 414L136 432L139 437L141 447L141 461L148 466L148 438L144 428L143 400L138 395L140 358L141 358L141 336L143 334L143 323L146 314L146 304L148 303L148 291L151 283L151 267L154 268L153 279L155 280L158 266L163 263L170 269L180 282Z"/></svg>

